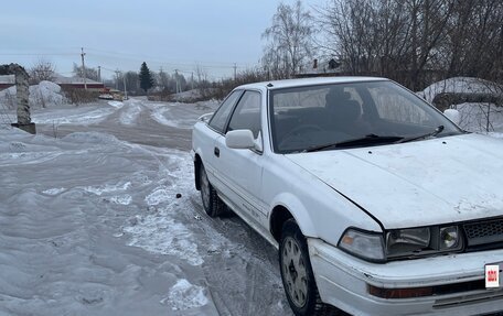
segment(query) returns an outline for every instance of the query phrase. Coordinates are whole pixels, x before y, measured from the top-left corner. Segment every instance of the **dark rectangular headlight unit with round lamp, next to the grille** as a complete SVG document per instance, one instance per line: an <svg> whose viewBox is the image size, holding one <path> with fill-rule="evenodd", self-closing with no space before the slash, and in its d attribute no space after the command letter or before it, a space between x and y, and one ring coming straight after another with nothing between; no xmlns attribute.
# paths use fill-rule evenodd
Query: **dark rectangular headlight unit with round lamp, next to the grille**
<svg viewBox="0 0 503 316"><path fill-rule="evenodd" d="M463 239L458 226L395 229L386 233L387 258L418 257L459 251Z"/></svg>

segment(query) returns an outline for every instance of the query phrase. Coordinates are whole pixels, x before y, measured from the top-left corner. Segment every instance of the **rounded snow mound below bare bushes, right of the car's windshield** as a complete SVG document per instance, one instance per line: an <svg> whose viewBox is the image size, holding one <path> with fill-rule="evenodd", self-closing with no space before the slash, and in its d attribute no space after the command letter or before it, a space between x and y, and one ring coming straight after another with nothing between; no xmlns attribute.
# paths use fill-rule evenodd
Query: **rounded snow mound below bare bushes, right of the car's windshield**
<svg viewBox="0 0 503 316"><path fill-rule="evenodd" d="M419 96L432 102L439 94L489 94L502 95L503 87L484 79L472 77L453 77L428 86Z"/></svg>

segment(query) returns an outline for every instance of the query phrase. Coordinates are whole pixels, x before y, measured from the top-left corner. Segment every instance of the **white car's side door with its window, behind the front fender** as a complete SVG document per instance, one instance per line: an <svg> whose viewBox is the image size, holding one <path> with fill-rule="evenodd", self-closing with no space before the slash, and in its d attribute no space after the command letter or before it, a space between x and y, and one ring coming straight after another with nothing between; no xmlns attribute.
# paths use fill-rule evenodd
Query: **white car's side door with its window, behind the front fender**
<svg viewBox="0 0 503 316"><path fill-rule="evenodd" d="M246 90L235 107L226 132L232 130L252 130L257 142L261 143L261 95ZM261 199L263 153L259 150L229 149L225 135L218 135L215 151L220 152L215 168L221 177L224 199L232 204L235 211L257 224L264 222L265 205Z"/></svg>

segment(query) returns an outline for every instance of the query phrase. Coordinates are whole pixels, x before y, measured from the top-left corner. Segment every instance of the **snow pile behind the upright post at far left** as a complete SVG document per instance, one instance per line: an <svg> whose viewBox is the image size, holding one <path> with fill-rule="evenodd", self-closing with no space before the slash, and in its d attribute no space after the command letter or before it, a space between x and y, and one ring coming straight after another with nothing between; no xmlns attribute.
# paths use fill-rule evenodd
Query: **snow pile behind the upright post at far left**
<svg viewBox="0 0 503 316"><path fill-rule="evenodd" d="M7 105L9 109L15 109L15 86L0 91L0 102ZM39 85L30 86L29 103L33 109L51 108L65 105L67 100L58 85L51 81L41 81Z"/></svg>

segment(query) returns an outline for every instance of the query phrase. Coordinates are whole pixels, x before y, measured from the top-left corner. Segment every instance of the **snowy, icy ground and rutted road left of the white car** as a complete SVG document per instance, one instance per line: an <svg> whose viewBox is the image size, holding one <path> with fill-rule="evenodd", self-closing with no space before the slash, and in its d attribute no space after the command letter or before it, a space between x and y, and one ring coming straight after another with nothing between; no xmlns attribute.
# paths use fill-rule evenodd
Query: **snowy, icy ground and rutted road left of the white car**
<svg viewBox="0 0 503 316"><path fill-rule="evenodd" d="M291 315L276 250L193 186L215 102L131 99L0 126L0 315ZM176 198L181 194L181 198Z"/></svg>

